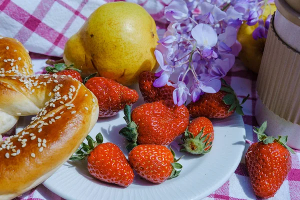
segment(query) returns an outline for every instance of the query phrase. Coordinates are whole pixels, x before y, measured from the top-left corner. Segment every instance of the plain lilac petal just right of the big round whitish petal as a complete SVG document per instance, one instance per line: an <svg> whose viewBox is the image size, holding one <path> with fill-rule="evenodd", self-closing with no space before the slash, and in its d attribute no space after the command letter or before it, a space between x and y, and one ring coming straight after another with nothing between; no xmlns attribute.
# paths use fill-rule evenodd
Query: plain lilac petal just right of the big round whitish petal
<svg viewBox="0 0 300 200"><path fill-rule="evenodd" d="M218 35L218 52L227 53L231 51L232 46L236 41L236 28L227 26L224 33Z"/></svg>

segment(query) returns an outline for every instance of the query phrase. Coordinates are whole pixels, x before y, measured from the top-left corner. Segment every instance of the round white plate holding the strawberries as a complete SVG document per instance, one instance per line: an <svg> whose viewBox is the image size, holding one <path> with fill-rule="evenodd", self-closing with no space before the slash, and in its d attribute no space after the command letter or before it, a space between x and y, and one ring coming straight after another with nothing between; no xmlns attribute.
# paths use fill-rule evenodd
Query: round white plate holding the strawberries
<svg viewBox="0 0 300 200"><path fill-rule="evenodd" d="M139 99L134 106L141 104ZM21 117L18 128L23 128L30 117ZM183 165L180 175L161 184L153 184L135 174L134 181L127 188L101 182L87 171L86 161L67 161L43 184L59 196L71 199L201 199L228 180L240 162L245 144L245 129L242 117L237 114L213 120L214 141L209 153L198 156L179 152L178 137L171 143L176 158L184 155L179 163ZM120 147L127 156L126 139L118 134L125 126L123 113L98 119L89 135L95 137L101 132L104 142L110 141ZM86 142L86 141L85 141Z"/></svg>

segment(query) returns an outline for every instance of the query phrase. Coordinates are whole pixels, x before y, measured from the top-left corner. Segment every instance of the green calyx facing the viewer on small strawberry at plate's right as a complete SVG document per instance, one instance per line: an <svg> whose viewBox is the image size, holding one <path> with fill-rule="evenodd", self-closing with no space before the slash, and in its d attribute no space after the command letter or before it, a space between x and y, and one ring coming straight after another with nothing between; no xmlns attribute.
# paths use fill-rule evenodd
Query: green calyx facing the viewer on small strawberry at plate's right
<svg viewBox="0 0 300 200"><path fill-rule="evenodd" d="M210 139L209 134L205 134L204 136L202 136L204 128L205 127L203 127L195 137L186 128L186 130L184 131L181 137L182 144L180 144L181 145L180 151L186 151L191 154L208 153L211 150L212 142L211 141L209 142ZM207 146L209 146L209 148L205 150Z"/></svg>

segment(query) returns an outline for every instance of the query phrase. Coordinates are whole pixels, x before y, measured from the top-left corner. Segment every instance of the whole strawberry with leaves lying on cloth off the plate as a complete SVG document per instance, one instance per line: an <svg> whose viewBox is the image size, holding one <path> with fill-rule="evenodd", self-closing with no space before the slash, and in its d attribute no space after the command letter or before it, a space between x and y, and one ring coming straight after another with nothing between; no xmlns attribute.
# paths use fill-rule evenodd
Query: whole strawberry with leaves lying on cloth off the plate
<svg viewBox="0 0 300 200"><path fill-rule="evenodd" d="M291 167L294 151L286 145L287 136L274 138L264 134L266 121L254 127L259 142L253 143L245 154L246 167L255 194L262 198L274 196Z"/></svg>

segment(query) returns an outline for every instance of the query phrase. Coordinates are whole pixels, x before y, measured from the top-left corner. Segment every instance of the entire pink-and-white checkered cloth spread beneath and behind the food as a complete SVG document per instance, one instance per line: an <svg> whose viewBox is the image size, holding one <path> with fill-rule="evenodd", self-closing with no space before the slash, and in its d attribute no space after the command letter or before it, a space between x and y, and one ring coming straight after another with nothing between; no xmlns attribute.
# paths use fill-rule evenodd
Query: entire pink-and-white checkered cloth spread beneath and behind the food
<svg viewBox="0 0 300 200"><path fill-rule="evenodd" d="M87 19L88 15L99 5L113 0L0 0L0 35L15 37L27 49L47 55L60 56L63 46L69 38ZM163 21L163 6L170 0L129 0L144 6L155 19ZM57 23L59 21L59 23ZM160 27L164 27L159 23ZM163 29L159 31L163 33ZM158 33L158 34L159 34ZM31 54L31 57L33 54ZM43 67L43 62L39 62ZM254 117L256 102L257 75L245 69L239 60L228 72L225 80L231 84L241 100L248 93L249 99L243 105L245 115L243 120L246 138L256 142L256 134L252 126L258 125ZM246 148L248 144L246 144ZM276 200L300 199L300 150L292 154L292 168L275 196ZM18 200L62 199L43 185L15 198ZM251 188L244 159L241 160L235 172L220 188L204 199L259 199Z"/></svg>

